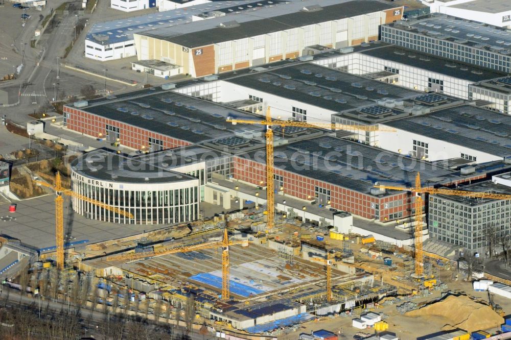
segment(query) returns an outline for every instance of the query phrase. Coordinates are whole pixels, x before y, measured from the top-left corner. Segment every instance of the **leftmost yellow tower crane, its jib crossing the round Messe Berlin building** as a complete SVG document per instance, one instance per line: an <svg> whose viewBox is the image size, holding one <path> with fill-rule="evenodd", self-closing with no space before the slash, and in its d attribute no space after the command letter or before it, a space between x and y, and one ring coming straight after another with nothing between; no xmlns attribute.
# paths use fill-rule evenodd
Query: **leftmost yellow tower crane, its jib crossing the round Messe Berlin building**
<svg viewBox="0 0 511 340"><path fill-rule="evenodd" d="M90 199L86 196L80 195L79 193L74 192L71 189L64 189L62 187L62 182L60 180L60 173L57 172L55 174L55 185L51 185L42 181L35 181L37 185L42 185L47 188L53 189L56 193L55 197L55 225L56 225L56 241L57 241L57 268L59 270L64 269L64 208L63 203L64 199L62 195L75 197L79 200L83 200L85 202L89 202L94 204L100 208L110 210L112 212L118 213L120 215L133 218L133 214L126 212L124 210L112 207L108 204L100 202L98 200Z"/></svg>

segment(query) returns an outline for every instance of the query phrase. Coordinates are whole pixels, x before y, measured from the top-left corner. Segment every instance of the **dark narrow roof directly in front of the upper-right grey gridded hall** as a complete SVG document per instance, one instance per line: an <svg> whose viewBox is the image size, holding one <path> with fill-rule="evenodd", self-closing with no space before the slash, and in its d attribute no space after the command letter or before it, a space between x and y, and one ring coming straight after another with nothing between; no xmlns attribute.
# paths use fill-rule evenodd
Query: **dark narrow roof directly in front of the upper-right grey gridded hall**
<svg viewBox="0 0 511 340"><path fill-rule="evenodd" d="M477 67L472 64L453 61L447 58L436 57L396 45L381 43L373 44L372 46L374 46L374 48L359 49L357 52L363 55L394 61L472 82L505 76L504 72Z"/></svg>

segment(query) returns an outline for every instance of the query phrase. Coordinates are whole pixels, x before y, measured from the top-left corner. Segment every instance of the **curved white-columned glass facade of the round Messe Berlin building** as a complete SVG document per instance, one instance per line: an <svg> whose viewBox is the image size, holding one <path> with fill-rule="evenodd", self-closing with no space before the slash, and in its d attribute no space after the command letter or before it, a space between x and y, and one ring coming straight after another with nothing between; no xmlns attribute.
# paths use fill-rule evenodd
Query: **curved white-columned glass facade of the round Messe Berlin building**
<svg viewBox="0 0 511 340"><path fill-rule="evenodd" d="M198 219L198 180L159 184L73 180L72 189L80 195L130 212L134 216L125 217L73 198L73 209L92 220L122 224L176 224Z"/></svg>

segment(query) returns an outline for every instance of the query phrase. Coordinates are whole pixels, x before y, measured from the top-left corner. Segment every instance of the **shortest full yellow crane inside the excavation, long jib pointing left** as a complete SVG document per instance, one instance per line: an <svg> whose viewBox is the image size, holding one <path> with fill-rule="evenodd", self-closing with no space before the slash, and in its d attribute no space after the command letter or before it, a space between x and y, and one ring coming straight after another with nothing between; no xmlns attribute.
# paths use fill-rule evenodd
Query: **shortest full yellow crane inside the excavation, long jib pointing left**
<svg viewBox="0 0 511 340"><path fill-rule="evenodd" d="M156 257L162 255L176 254L176 253L187 253L194 250L201 249L209 249L209 248L222 248L222 300L228 300L230 297L230 287L229 287L229 246L246 244L249 242L248 240L243 241L229 241L229 236L227 235L227 228L224 229L223 239L221 241L214 242L205 242L198 245L192 246L182 246L175 247L170 249L162 249L158 251L152 252L144 252L144 253L131 253L131 254L121 254L121 255L112 255L107 256L107 261L134 261L141 260L148 257Z"/></svg>

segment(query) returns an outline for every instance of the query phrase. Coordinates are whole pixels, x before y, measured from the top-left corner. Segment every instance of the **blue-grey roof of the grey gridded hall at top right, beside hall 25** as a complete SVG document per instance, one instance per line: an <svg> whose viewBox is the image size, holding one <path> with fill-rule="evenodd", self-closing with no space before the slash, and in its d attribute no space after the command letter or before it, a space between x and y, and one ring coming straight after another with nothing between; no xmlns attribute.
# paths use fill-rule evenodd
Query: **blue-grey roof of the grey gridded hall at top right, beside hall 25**
<svg viewBox="0 0 511 340"><path fill-rule="evenodd" d="M397 21L388 25L438 40L491 50L504 55L511 54L509 50L511 32L482 22L435 14L426 19Z"/></svg>

